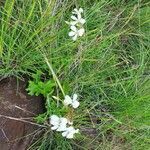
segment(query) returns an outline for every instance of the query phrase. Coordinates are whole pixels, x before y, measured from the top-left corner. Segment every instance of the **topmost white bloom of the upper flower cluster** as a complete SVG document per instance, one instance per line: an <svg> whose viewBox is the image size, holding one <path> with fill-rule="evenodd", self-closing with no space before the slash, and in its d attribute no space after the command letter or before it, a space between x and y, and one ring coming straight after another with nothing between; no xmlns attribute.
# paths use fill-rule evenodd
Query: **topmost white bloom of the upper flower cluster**
<svg viewBox="0 0 150 150"><path fill-rule="evenodd" d="M73 26L77 25L77 24L83 25L86 22L85 19L83 19L82 16L81 16L81 13L83 13L82 8L80 8L79 10L75 8L72 13L75 14L75 15L71 16L71 19L74 20L74 21L71 21L70 25L73 25Z"/></svg>

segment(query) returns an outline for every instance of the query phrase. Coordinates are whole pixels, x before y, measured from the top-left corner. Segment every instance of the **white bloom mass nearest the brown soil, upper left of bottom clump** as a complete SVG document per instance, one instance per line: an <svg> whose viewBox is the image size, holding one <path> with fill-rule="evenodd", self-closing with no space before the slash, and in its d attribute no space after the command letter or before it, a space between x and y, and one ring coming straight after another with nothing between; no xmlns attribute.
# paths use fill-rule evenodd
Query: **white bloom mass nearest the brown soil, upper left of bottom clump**
<svg viewBox="0 0 150 150"><path fill-rule="evenodd" d="M56 131L65 131L67 128L68 120L66 118L59 118L57 115L52 115L50 117L50 124L53 126L51 127L52 130Z"/></svg>

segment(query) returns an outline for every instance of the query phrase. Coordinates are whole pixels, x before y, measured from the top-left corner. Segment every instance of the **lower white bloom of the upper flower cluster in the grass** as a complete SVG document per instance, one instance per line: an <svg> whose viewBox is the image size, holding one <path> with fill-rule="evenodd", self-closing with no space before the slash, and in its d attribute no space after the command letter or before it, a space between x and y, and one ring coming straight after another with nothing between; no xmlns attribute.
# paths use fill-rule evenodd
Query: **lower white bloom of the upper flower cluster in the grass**
<svg viewBox="0 0 150 150"><path fill-rule="evenodd" d="M76 26L71 26L70 28L71 28L72 31L69 32L69 36L72 37L72 39L74 41L77 40L78 36L82 36L85 32L84 28L81 28L79 30L77 29Z"/></svg>

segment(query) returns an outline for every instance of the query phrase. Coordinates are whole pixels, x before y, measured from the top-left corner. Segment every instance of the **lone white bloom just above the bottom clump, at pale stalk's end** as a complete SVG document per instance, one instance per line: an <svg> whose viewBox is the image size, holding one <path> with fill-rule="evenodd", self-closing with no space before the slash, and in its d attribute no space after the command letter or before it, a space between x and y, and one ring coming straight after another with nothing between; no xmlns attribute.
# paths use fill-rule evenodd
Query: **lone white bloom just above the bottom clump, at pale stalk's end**
<svg viewBox="0 0 150 150"><path fill-rule="evenodd" d="M77 101L77 94L73 95L73 98L71 98L69 95L65 96L64 105L68 106L71 105L73 108L79 107L80 103Z"/></svg>

